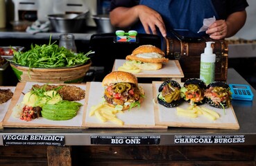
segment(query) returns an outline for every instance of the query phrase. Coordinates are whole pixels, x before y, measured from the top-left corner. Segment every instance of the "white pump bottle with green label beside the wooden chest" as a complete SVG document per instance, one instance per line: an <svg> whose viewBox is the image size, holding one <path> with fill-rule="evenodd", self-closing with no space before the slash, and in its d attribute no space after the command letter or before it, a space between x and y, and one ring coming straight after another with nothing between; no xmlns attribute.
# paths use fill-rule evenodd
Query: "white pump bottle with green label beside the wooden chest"
<svg viewBox="0 0 256 166"><path fill-rule="evenodd" d="M205 84L214 82L215 78L216 55L212 53L212 43L214 42L206 42L205 53L202 53L200 58L200 80Z"/></svg>

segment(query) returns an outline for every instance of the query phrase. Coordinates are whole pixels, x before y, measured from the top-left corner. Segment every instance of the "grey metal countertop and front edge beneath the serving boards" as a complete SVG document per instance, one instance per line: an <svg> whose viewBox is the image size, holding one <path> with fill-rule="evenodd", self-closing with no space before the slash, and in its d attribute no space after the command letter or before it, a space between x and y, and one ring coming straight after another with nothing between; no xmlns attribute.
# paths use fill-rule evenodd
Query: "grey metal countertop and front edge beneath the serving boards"
<svg viewBox="0 0 256 166"><path fill-rule="evenodd" d="M241 75L228 68L228 84L248 84ZM252 88L252 87L251 87ZM252 88L254 94L255 89ZM158 136L158 145L178 145L177 136L228 136L242 137L244 142L224 142L226 145L256 145L256 105L252 102L232 100L232 106L237 116L240 129L189 129L169 127L169 129L0 129L0 145L3 145L4 135L50 135L65 136L65 145L92 145L92 136ZM193 145L200 145L194 143ZM218 144L217 144L218 145Z"/></svg>

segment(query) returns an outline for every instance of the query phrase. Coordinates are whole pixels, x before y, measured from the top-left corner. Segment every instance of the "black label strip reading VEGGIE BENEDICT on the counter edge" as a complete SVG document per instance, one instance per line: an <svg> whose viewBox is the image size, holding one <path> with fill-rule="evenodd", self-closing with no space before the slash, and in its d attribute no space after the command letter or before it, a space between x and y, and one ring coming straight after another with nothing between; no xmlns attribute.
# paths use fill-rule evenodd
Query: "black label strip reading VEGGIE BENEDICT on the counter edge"
<svg viewBox="0 0 256 166"><path fill-rule="evenodd" d="M64 146L65 136L8 134L3 135L3 145Z"/></svg>

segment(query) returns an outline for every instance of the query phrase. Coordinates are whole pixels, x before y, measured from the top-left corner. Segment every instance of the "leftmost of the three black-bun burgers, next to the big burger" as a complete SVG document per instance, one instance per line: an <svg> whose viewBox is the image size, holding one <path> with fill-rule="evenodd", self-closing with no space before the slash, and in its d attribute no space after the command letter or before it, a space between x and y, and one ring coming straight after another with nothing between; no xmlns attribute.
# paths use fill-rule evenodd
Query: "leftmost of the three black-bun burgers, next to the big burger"
<svg viewBox="0 0 256 166"><path fill-rule="evenodd" d="M180 84L174 80L163 82L158 89L160 92L157 95L158 103L167 108L177 107L182 103L180 89Z"/></svg>

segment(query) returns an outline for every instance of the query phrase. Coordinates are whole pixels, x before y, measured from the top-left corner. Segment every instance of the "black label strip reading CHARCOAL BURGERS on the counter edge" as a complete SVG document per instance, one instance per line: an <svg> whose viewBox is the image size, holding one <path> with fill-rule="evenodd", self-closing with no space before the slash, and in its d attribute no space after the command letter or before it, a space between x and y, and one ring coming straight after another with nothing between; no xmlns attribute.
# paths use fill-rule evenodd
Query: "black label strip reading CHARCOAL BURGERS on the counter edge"
<svg viewBox="0 0 256 166"><path fill-rule="evenodd" d="M245 143L244 135L220 135L220 136L174 136L175 144L241 144Z"/></svg>

